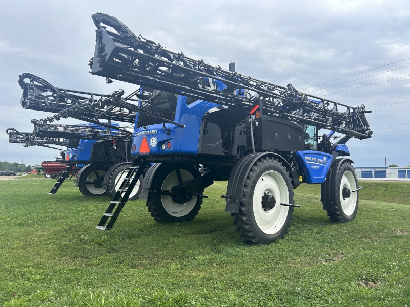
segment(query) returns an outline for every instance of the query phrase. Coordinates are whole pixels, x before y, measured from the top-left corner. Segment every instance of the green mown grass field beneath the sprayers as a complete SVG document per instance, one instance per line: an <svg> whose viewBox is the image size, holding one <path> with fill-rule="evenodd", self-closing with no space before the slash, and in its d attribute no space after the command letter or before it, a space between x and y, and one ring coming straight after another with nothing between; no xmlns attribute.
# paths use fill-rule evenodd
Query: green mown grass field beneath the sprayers
<svg viewBox="0 0 410 307"><path fill-rule="evenodd" d="M346 224L302 185L285 239L252 246L224 212L226 182L193 221L158 224L138 200L99 231L108 197L72 181L56 195L54 180L0 181L0 305L410 306L410 184L360 183Z"/></svg>

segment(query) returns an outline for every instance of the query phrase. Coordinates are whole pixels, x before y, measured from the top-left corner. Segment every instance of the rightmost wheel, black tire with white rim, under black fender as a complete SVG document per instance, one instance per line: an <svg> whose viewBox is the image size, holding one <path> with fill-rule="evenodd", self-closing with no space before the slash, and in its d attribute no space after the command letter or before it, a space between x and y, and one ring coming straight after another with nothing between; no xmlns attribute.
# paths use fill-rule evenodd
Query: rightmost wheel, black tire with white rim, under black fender
<svg viewBox="0 0 410 307"><path fill-rule="evenodd" d="M347 161L342 162L338 171L331 174L330 180L335 186L331 187L329 198L323 199L322 196L327 215L330 220L339 223L352 221L356 217L359 204L358 191L352 192L358 186L353 166ZM322 184L322 189L324 188L325 185Z"/></svg>

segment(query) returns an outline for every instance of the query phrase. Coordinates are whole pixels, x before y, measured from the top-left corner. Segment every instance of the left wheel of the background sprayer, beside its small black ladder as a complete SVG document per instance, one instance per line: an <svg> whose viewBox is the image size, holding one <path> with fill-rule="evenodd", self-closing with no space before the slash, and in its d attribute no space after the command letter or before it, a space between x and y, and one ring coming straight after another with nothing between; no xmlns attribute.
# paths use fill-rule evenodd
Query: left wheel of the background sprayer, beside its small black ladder
<svg viewBox="0 0 410 307"><path fill-rule="evenodd" d="M98 173L98 178L94 172L94 169ZM107 195L107 190L104 188L103 180L106 173L105 168L101 167L88 167L81 173L79 179L78 188L81 194L84 196L104 196ZM91 183L94 184L91 184Z"/></svg>

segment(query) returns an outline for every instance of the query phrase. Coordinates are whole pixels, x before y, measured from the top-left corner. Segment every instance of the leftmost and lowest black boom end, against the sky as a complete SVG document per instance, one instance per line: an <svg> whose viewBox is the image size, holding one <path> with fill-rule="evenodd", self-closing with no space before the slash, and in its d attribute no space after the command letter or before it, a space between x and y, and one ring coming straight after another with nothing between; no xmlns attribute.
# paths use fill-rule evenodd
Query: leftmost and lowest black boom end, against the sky
<svg viewBox="0 0 410 307"><path fill-rule="evenodd" d="M14 128L7 129L6 133L9 135L9 143L24 144L24 147L41 146L61 150L50 145L66 147L68 142L67 138L36 137L33 132L20 132Z"/></svg>

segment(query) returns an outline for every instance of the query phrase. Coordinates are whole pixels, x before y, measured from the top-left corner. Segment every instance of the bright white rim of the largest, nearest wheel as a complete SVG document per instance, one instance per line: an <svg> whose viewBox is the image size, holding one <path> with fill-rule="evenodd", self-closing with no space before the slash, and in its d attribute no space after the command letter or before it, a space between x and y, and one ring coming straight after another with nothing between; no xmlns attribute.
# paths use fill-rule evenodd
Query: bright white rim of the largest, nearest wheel
<svg viewBox="0 0 410 307"><path fill-rule="evenodd" d="M269 192L275 197L276 205L265 211L262 208L262 196ZM285 180L277 171L267 171L258 180L253 193L253 214L255 222L264 233L275 234L286 222L289 207L280 204L289 204L289 190Z"/></svg>

